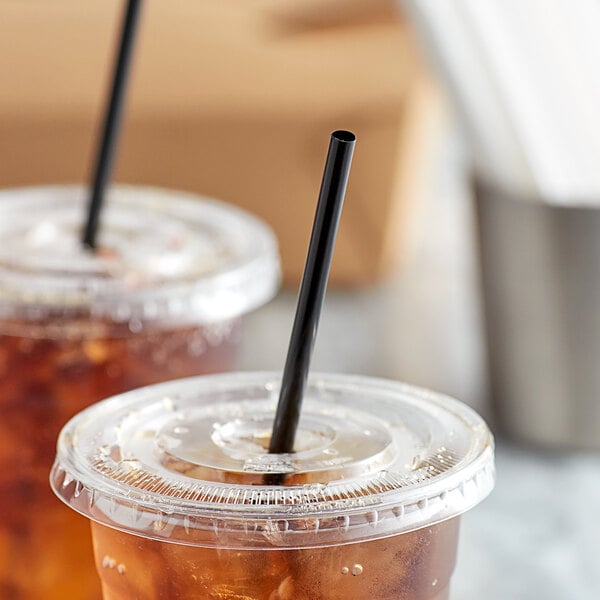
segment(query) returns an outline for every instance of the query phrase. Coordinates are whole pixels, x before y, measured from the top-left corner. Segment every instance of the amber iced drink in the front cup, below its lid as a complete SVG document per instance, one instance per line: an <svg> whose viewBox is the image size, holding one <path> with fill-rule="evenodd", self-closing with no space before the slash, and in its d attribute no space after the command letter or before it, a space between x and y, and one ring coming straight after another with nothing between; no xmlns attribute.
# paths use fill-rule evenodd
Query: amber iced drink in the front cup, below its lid
<svg viewBox="0 0 600 600"><path fill-rule="evenodd" d="M92 523L105 600L447 600L458 519L410 533L296 550L227 550Z"/></svg>

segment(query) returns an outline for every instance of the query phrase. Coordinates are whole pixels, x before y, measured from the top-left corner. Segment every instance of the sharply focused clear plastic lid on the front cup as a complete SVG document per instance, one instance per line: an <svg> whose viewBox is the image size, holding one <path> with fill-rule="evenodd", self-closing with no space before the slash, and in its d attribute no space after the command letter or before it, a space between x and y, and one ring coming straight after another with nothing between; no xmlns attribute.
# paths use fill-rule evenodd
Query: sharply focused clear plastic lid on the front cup
<svg viewBox="0 0 600 600"><path fill-rule="evenodd" d="M63 429L55 493L133 534L223 548L300 548L412 531L494 485L493 439L451 398L345 375L309 381L296 452L267 453L279 375L150 386Z"/></svg>

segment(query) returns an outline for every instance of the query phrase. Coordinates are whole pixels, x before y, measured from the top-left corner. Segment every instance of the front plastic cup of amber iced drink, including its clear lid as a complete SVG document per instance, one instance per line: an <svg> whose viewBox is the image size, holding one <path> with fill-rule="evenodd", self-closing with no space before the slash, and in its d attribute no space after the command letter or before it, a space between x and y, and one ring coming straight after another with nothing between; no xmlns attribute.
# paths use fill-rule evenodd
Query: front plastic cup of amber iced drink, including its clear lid
<svg viewBox="0 0 600 600"><path fill-rule="evenodd" d="M268 454L279 379L150 386L63 429L51 485L91 520L105 600L448 598L459 515L494 484L485 423L431 392L315 375L296 452Z"/></svg>

